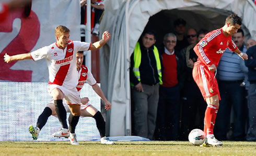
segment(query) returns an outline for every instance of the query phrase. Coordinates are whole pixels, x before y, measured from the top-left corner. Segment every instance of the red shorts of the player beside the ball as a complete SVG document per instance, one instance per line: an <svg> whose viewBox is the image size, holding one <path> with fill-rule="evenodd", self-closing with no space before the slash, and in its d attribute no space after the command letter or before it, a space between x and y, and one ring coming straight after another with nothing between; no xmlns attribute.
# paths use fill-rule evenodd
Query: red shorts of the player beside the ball
<svg viewBox="0 0 256 156"><path fill-rule="evenodd" d="M213 97L214 95L218 95L220 100L215 73L210 71L207 66L195 63L193 68L193 78L199 87L204 100L206 100L206 98Z"/></svg>

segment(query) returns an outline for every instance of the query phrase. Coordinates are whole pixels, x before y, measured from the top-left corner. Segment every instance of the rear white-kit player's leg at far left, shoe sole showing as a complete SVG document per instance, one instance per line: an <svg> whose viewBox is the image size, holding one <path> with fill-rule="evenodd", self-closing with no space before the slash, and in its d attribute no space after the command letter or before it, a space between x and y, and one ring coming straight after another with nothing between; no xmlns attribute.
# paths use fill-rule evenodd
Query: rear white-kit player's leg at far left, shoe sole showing
<svg viewBox="0 0 256 156"><path fill-rule="evenodd" d="M49 103L43 110L42 114L38 117L37 126L33 127L32 125L29 126L29 133L32 135L34 140L38 139L38 135L40 130L46 124L48 118L55 114L55 107L53 103Z"/></svg>

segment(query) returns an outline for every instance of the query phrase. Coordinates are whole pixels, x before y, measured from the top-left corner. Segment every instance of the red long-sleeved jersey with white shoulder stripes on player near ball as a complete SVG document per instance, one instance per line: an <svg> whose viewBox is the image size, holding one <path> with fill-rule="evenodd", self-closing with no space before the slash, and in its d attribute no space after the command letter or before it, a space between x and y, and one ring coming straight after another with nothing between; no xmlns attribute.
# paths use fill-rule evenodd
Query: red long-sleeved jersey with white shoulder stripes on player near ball
<svg viewBox="0 0 256 156"><path fill-rule="evenodd" d="M197 64L205 64L210 67L214 64L216 67L219 64L225 50L237 50L237 45L231 40L231 36L226 37L222 28L213 30L205 35L205 37L195 45L194 51L197 58Z"/></svg>

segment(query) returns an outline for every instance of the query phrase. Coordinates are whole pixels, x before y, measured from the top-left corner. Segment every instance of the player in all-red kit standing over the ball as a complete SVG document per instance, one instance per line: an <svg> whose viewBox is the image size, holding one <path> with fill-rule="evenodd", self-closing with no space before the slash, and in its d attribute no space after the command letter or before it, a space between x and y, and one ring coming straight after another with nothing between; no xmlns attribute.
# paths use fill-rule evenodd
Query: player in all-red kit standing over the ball
<svg viewBox="0 0 256 156"><path fill-rule="evenodd" d="M236 44L231 40L233 34L240 28L242 19L237 14L232 14L226 18L225 25L217 30L213 30L195 45L194 51L198 56L193 68L193 78L200 88L201 93L207 103L204 117L204 132L206 140L203 146L222 146L213 134L215 118L219 107L219 89L215 78L220 57L227 47L238 54L242 59L248 59L247 54L241 53Z"/></svg>

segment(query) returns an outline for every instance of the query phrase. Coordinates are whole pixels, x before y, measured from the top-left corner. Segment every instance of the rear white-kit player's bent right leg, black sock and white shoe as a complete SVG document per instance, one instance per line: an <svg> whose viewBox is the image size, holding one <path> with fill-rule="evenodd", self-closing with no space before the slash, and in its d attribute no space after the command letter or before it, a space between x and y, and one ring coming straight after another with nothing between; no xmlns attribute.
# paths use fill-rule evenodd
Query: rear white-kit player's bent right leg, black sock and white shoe
<svg viewBox="0 0 256 156"><path fill-rule="evenodd" d="M93 117L96 121L96 126L100 133L101 144L114 144L113 141L106 139L106 122L100 111L98 111L94 106L88 105L86 109L81 110L81 116Z"/></svg>

